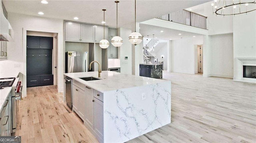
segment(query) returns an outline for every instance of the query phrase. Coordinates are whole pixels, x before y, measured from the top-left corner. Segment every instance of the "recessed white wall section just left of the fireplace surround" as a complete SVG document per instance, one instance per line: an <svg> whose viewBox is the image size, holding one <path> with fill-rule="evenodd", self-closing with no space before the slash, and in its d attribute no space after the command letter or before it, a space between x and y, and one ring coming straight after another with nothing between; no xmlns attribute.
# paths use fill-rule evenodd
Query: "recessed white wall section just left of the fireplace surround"
<svg viewBox="0 0 256 143"><path fill-rule="evenodd" d="M210 75L233 77L233 34L212 35L210 47Z"/></svg>

